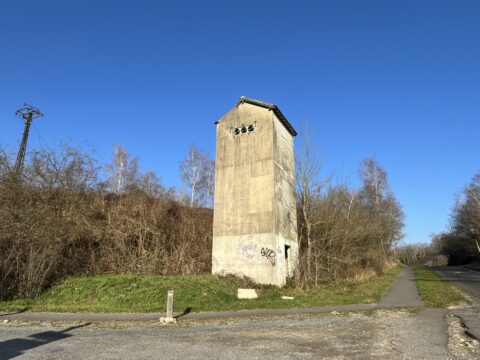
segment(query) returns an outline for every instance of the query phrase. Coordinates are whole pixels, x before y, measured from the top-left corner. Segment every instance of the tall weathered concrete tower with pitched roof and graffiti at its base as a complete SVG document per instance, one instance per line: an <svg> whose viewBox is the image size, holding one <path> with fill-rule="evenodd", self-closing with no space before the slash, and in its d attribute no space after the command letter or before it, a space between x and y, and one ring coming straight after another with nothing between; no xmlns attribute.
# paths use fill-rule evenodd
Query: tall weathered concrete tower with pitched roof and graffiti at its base
<svg viewBox="0 0 480 360"><path fill-rule="evenodd" d="M282 286L298 263L297 133L277 106L245 97L215 124L212 273Z"/></svg>

